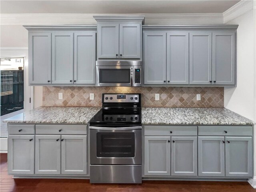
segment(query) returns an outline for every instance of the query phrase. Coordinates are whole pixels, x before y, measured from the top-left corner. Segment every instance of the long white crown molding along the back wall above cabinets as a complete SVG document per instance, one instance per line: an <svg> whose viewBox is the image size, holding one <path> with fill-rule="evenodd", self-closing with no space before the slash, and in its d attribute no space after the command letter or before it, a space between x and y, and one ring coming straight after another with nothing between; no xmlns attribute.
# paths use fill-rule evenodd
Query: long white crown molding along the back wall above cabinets
<svg viewBox="0 0 256 192"><path fill-rule="evenodd" d="M0 14L1 25L96 25L94 14ZM97 16L117 16L98 14ZM125 14L122 16L132 17ZM223 24L222 13L206 14L136 14L145 24Z"/></svg>

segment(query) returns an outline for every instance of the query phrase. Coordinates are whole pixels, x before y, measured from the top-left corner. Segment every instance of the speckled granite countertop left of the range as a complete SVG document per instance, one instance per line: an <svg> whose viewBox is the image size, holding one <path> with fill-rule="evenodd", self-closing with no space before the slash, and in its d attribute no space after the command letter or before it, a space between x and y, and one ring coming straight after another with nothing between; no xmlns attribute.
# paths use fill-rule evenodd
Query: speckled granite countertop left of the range
<svg viewBox="0 0 256 192"><path fill-rule="evenodd" d="M39 107L3 122L88 124L100 107Z"/></svg>

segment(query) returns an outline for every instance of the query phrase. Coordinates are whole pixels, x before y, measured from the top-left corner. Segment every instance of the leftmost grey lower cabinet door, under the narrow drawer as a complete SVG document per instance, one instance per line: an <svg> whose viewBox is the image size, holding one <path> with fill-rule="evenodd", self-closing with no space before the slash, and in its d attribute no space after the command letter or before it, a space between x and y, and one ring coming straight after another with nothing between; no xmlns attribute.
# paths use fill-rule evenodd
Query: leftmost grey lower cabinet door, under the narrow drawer
<svg viewBox="0 0 256 192"><path fill-rule="evenodd" d="M8 136L8 173L34 174L34 135Z"/></svg>

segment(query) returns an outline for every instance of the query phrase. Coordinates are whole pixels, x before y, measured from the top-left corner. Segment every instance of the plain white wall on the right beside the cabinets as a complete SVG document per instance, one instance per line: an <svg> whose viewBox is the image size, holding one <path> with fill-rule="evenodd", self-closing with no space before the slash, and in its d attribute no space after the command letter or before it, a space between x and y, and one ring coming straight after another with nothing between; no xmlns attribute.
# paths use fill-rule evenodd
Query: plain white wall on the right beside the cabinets
<svg viewBox="0 0 256 192"><path fill-rule="evenodd" d="M237 87L224 88L224 107L256 121L255 9L228 24L237 29Z"/></svg>

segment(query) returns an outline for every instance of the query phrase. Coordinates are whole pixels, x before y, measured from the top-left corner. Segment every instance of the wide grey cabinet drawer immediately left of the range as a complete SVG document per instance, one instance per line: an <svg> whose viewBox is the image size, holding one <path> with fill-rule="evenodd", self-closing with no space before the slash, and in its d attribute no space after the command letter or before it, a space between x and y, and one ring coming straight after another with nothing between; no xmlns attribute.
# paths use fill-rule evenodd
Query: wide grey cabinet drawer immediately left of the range
<svg viewBox="0 0 256 192"><path fill-rule="evenodd" d="M87 134L87 125L36 125L36 134Z"/></svg>

